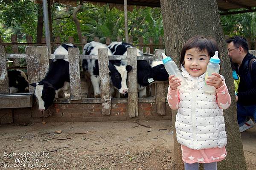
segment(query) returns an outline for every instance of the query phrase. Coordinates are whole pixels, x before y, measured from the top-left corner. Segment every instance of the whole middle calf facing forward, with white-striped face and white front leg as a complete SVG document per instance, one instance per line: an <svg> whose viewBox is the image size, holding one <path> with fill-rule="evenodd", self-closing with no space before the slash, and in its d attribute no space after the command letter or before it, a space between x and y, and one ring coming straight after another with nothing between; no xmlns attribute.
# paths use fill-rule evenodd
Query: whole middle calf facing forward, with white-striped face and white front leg
<svg viewBox="0 0 256 170"><path fill-rule="evenodd" d="M107 48L108 55L113 55L109 48L100 42L89 42L84 45L84 55L98 55L99 48ZM99 88L99 62L96 59L84 59L82 66L85 71L90 74L90 79L93 85L94 97L100 97ZM127 73L132 70L131 65L127 65L126 60L109 60L108 70L110 72L111 79L111 94L116 88L120 94L126 94L128 92L127 87ZM114 87L114 88L113 88Z"/></svg>

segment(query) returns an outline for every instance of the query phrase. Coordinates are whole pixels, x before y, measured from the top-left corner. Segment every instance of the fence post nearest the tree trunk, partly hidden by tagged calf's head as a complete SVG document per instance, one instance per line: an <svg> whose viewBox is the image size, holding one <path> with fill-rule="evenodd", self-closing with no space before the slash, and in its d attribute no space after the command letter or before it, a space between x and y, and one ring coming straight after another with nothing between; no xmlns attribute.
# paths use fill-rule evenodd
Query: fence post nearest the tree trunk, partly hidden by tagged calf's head
<svg viewBox="0 0 256 170"><path fill-rule="evenodd" d="M155 60L162 61L162 53L164 53L164 49L156 49L155 50ZM157 114L165 115L166 114L166 89L164 88L164 82L156 83L156 105L157 105Z"/></svg>

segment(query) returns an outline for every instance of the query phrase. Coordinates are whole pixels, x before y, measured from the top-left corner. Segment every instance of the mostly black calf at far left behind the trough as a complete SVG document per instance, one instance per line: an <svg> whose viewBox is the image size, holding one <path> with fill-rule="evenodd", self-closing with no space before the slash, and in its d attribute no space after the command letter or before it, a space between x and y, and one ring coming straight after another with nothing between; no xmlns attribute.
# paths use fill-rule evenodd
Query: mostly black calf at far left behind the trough
<svg viewBox="0 0 256 170"><path fill-rule="evenodd" d="M26 93L29 91L29 81L26 74L19 70L8 70L10 93Z"/></svg>

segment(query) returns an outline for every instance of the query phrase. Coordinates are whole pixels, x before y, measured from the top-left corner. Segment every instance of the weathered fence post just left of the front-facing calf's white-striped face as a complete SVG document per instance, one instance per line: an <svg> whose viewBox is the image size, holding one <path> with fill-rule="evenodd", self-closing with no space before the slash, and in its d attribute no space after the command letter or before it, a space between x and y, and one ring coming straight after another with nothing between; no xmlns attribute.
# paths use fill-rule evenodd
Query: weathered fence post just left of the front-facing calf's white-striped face
<svg viewBox="0 0 256 170"><path fill-rule="evenodd" d="M111 114L111 93L108 69L108 49L98 49L102 114Z"/></svg>

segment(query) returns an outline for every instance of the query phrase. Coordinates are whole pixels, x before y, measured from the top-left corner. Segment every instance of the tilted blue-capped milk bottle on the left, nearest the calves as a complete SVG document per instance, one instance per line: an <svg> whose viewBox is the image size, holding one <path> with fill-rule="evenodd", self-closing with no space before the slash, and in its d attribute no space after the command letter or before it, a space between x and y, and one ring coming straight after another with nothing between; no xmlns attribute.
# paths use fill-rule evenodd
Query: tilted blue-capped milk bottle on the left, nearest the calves
<svg viewBox="0 0 256 170"><path fill-rule="evenodd" d="M177 88L181 88L183 85L186 84L186 80L180 73L180 69L177 67L175 62L172 60L171 57L166 56L164 53L162 53L163 56L163 64L164 67L169 75L175 75L175 77L179 78L181 80L181 85L179 85Z"/></svg>

